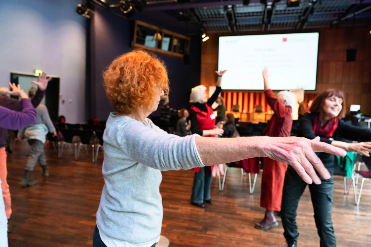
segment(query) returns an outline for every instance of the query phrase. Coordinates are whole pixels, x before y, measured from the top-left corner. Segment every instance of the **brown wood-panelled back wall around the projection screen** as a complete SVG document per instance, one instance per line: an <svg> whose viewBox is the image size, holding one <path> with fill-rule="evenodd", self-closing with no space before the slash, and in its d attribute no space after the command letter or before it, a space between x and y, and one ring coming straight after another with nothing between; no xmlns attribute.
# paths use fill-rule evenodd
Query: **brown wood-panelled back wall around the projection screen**
<svg viewBox="0 0 371 247"><path fill-rule="evenodd" d="M317 89L308 91L312 95L335 88L343 90L347 95L347 110L351 104L361 104L364 114L371 114L371 35L369 27L356 27L354 30L353 47L357 48L356 61L347 62L346 50L352 47L352 28L319 29L319 51ZM210 39L202 43L201 84L207 89L214 86L218 67L218 34L209 35ZM231 54L231 56L238 56ZM247 93L247 91L244 91ZM250 92L250 91L249 91ZM262 90L242 94L242 109L253 109L254 99L259 101ZM241 94L239 94L241 96ZM247 100L245 100L247 98ZM261 96L260 96L260 99ZM239 99L240 101L240 99ZM231 102L231 105L233 103ZM265 104L263 107L265 107ZM232 106L231 106L232 107Z"/></svg>

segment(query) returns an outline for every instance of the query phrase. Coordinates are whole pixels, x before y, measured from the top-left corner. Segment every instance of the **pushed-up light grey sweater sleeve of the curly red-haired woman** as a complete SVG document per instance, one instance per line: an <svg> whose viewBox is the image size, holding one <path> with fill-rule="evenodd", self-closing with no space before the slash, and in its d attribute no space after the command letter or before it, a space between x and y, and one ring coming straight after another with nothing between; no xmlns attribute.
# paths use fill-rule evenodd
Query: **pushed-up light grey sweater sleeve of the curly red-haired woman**
<svg viewBox="0 0 371 247"><path fill-rule="evenodd" d="M194 141L198 135L179 137L160 131L153 123L151 127L147 124L116 126L116 143L128 158L161 171L204 166Z"/></svg>

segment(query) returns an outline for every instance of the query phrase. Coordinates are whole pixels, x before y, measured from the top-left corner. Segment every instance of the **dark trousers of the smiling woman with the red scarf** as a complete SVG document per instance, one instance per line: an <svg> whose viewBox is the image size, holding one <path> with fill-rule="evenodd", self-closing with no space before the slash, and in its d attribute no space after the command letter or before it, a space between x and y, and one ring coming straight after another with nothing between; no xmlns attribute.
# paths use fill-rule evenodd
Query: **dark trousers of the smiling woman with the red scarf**
<svg viewBox="0 0 371 247"><path fill-rule="evenodd" d="M334 228L332 227L332 199L334 193L334 180L321 178L321 184L308 184L311 192L314 219L317 232L321 238L321 247L336 246ZM306 183L299 177L292 167L288 167L283 185L281 218L284 228L283 235L288 243L298 241L299 233L296 225L296 209Z"/></svg>

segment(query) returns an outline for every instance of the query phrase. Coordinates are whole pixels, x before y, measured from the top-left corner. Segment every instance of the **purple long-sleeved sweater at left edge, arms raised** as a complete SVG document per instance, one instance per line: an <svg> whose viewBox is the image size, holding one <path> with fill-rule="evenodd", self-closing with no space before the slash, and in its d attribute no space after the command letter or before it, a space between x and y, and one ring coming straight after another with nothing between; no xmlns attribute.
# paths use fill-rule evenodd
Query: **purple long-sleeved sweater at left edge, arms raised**
<svg viewBox="0 0 371 247"><path fill-rule="evenodd" d="M0 96L0 147L5 147L8 128L18 130L35 123L35 107L40 104L44 95L45 90L37 90L32 100Z"/></svg>

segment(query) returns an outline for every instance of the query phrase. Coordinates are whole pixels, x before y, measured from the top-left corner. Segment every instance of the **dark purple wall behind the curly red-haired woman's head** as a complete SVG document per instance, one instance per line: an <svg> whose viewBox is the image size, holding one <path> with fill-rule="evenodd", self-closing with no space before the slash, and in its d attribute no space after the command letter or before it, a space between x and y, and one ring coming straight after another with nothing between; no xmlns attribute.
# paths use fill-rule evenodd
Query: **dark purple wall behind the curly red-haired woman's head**
<svg viewBox="0 0 371 247"><path fill-rule="evenodd" d="M115 57L131 50L133 27L134 22L115 16L106 10L95 8L94 17L91 20L92 118L107 119L109 112L114 111L104 92L102 73ZM198 35L190 37L190 65L184 65L182 59L158 55L168 69L170 106L175 109L187 108L188 93L192 87L200 84L201 40ZM159 111L153 115L158 116Z"/></svg>

